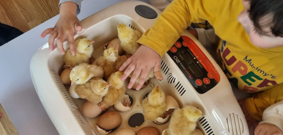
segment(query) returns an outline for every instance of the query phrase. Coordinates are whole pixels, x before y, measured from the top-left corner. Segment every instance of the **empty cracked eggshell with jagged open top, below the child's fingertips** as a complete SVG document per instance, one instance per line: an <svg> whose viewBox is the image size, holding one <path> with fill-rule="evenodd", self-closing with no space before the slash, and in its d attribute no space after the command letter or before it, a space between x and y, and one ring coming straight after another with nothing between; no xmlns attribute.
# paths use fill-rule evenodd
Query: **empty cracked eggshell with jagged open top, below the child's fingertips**
<svg viewBox="0 0 283 135"><path fill-rule="evenodd" d="M125 111L130 111L132 109L131 106L131 101L128 95L124 95L121 99L120 102L114 104L114 108L117 111L125 112Z"/></svg>

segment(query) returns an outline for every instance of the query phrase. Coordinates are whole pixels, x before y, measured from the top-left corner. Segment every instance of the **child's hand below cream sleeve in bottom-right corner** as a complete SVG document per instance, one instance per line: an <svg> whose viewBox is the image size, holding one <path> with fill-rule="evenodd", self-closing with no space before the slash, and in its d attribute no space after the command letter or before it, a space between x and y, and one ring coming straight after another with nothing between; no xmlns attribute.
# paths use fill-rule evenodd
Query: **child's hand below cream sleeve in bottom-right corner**
<svg viewBox="0 0 283 135"><path fill-rule="evenodd" d="M254 135L283 135L283 132L273 124L260 123L256 126Z"/></svg>

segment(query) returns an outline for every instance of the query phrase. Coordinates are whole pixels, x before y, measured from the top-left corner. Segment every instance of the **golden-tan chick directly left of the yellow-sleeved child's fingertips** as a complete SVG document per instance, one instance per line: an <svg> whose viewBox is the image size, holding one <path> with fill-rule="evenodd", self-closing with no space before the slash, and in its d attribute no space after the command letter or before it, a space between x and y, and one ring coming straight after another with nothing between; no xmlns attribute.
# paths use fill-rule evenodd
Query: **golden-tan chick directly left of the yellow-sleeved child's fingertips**
<svg viewBox="0 0 283 135"><path fill-rule="evenodd" d="M107 82L111 84L109 87L108 92L103 97L103 101L107 105L114 105L115 103L119 102L120 99L123 97L126 91L126 84L125 81L121 81L121 77L123 75L123 72L117 71L113 73Z"/></svg>

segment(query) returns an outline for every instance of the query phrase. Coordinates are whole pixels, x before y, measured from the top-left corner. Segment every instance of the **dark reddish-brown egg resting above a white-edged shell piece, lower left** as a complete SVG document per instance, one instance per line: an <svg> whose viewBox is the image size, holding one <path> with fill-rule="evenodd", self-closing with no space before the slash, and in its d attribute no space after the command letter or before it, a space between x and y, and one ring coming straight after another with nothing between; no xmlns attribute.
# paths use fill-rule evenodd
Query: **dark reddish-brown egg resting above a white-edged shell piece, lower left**
<svg viewBox="0 0 283 135"><path fill-rule="evenodd" d="M104 130L111 130L121 124L122 117L117 111L108 111L102 114L97 121L97 125Z"/></svg>

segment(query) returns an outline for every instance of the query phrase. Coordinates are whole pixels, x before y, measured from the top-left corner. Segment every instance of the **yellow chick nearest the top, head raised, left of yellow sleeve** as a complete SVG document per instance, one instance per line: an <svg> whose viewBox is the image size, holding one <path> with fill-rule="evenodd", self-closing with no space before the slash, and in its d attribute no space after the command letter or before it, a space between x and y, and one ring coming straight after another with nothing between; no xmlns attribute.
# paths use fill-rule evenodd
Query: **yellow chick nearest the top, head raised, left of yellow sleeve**
<svg viewBox="0 0 283 135"><path fill-rule="evenodd" d="M134 54L140 47L136 41L142 36L142 34L134 30L125 24L117 24L118 38L121 41L121 47L128 54Z"/></svg>

